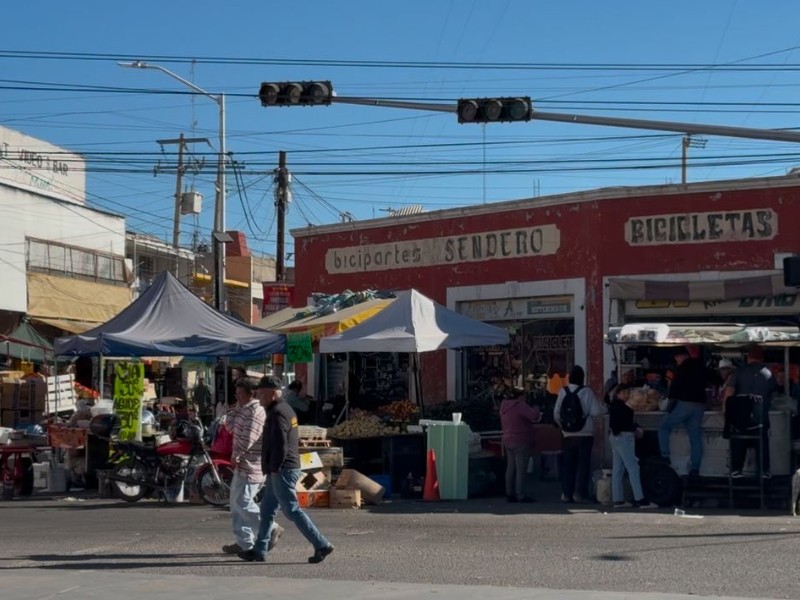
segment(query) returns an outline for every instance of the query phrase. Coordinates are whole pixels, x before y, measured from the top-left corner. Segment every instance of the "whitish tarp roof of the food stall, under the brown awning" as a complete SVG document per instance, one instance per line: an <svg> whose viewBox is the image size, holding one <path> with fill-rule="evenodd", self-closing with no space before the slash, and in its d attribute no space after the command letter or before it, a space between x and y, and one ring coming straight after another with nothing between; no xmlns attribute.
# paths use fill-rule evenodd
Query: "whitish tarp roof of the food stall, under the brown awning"
<svg viewBox="0 0 800 600"><path fill-rule="evenodd" d="M738 323L629 323L611 327L606 335L611 344L684 344L741 346L746 344L793 345L800 342L800 329L780 325L741 325Z"/></svg>

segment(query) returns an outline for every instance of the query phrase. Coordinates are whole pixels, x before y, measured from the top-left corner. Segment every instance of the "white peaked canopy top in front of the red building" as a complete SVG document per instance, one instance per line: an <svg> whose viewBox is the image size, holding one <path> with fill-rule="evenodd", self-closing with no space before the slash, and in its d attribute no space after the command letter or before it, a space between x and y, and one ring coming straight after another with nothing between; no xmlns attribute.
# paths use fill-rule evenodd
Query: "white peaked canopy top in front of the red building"
<svg viewBox="0 0 800 600"><path fill-rule="evenodd" d="M508 344L505 329L442 306L417 290L347 331L320 340L320 352L429 352Z"/></svg>

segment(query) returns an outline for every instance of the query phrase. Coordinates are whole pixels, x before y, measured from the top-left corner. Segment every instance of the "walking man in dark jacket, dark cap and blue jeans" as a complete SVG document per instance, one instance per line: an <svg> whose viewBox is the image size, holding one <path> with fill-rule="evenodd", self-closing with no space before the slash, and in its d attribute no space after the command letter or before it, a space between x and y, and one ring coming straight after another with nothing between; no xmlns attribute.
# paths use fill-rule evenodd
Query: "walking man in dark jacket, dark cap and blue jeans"
<svg viewBox="0 0 800 600"><path fill-rule="evenodd" d="M239 558L264 562L267 558L269 532L278 508L292 521L314 547L310 563L321 563L333 546L325 539L297 501L297 481L300 470L299 435L297 416L284 401L281 380L262 377L258 384L258 398L267 409L267 424L261 446L261 470L267 476L261 500L261 526L252 550L239 552Z"/></svg>

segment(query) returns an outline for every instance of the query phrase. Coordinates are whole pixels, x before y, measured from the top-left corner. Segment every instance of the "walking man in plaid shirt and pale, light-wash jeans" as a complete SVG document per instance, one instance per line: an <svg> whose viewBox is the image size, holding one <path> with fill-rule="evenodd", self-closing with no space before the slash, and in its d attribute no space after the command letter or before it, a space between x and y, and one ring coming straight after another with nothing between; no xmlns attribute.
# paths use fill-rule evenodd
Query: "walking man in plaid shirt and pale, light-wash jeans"
<svg viewBox="0 0 800 600"><path fill-rule="evenodd" d="M266 413L253 398L253 385L247 378L236 381L236 406L225 416L223 426L233 434L231 462L235 465L231 481L231 521L233 544L222 547L225 554L236 554L253 547L259 526L259 509L254 498L261 488L261 444ZM271 524L267 533L273 534L273 545L282 530Z"/></svg>

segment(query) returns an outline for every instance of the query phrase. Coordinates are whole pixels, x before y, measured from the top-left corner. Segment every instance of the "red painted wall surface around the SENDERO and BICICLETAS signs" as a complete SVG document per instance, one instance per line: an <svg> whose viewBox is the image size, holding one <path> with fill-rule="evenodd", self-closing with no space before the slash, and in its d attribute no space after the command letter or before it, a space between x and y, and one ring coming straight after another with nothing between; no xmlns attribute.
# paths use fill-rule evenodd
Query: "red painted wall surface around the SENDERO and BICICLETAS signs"
<svg viewBox="0 0 800 600"><path fill-rule="evenodd" d="M752 187L754 181L756 180L743 180L742 187ZM761 187L757 189L733 189L736 182L720 182L716 187L711 184L697 184L684 188L648 188L639 195L631 195L635 192L631 188L620 188L616 195L601 190L574 194L563 200L542 198L538 207L536 200L526 200L490 205L489 211L481 214L475 212L487 207L426 213L424 220L417 216L387 218L363 225L353 223L346 231L326 232L322 228L314 235L296 237L296 298L304 301L312 292L337 293L344 289L367 288L402 290L413 287L445 304L448 287L582 277L587 284L585 308L590 383L598 387L602 383L603 277L772 269L776 252L800 253L800 233L797 231L797 224L800 223L800 182L795 183L786 178L760 181L764 183L758 184ZM776 181L789 182L791 185L769 187L775 185L770 182ZM692 191L697 188L702 188L702 191ZM681 189L688 191L680 191ZM772 221L763 215L762 220L757 215L751 215L754 235L758 232L764 234L771 227L771 239L636 246L630 245L625 239L626 222L631 217L755 209L771 209L777 215L777 219ZM725 217L712 217L712 223L716 230L730 228L732 223L737 231L741 231L742 219L730 219L732 220L726 221ZM547 224L556 225L561 236L558 252L549 256L347 274L329 274L325 269L325 256L329 248L459 236ZM669 236L670 223L665 225L665 235ZM675 222L672 225L672 234L679 235ZM683 234L692 234L694 228L698 233L705 232L705 239L713 235L707 219L700 219L697 225L691 220L680 225L680 233ZM640 231L646 234L646 225ZM425 390L433 397L443 397L444 353L424 355L422 370Z"/></svg>

